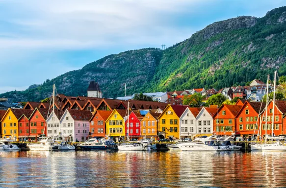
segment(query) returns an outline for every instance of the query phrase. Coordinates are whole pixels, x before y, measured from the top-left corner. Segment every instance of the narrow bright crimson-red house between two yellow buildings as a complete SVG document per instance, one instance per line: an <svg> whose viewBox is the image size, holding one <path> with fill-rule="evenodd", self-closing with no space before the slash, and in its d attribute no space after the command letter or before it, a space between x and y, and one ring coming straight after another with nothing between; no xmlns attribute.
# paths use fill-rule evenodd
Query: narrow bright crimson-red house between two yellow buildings
<svg viewBox="0 0 286 188"><path fill-rule="evenodd" d="M129 115L129 124L128 119L125 121L125 134L129 133L129 138L139 138L141 136L141 120L143 116L140 113L131 112ZM129 130L129 132L128 132Z"/></svg>

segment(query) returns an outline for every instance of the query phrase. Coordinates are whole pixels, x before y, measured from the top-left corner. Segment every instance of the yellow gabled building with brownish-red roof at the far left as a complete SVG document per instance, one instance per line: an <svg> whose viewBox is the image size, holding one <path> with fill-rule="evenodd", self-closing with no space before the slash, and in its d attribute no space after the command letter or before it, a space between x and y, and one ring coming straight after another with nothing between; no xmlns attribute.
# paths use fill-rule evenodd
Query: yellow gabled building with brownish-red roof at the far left
<svg viewBox="0 0 286 188"><path fill-rule="evenodd" d="M33 110L11 109L9 108L1 119L1 135L2 137L12 137L19 140L19 123L18 120L23 114L30 117Z"/></svg>

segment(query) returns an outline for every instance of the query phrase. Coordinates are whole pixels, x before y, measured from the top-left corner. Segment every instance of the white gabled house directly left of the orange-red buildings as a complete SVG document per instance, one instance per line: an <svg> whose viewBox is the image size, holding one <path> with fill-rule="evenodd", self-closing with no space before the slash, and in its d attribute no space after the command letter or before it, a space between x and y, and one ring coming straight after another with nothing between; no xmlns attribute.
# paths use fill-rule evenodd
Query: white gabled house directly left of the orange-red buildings
<svg viewBox="0 0 286 188"><path fill-rule="evenodd" d="M217 108L202 108L196 117L198 137L213 134L213 117L217 110Z"/></svg>

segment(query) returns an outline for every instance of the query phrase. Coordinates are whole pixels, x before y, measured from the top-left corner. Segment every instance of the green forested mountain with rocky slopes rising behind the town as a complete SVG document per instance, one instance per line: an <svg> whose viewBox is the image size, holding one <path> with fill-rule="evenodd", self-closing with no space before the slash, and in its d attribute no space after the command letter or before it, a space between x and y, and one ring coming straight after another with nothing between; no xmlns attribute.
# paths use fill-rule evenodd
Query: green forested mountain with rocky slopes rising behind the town
<svg viewBox="0 0 286 188"><path fill-rule="evenodd" d="M38 101L52 93L86 95L89 81L96 80L104 97L139 92L193 88L221 89L244 85L277 70L286 74L286 7L262 18L237 17L208 25L189 39L168 47L130 50L106 56L26 91L0 94L12 100Z"/></svg>

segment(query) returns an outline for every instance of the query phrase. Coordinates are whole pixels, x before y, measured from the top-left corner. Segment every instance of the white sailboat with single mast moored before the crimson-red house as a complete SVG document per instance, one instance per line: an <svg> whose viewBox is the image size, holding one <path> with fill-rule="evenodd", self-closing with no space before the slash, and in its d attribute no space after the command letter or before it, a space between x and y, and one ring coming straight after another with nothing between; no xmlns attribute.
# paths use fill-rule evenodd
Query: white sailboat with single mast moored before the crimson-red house
<svg viewBox="0 0 286 188"><path fill-rule="evenodd" d="M129 142L129 101L128 101L128 120L127 120L127 143L122 143L118 145L118 150L126 150L126 151L145 151L150 150L151 145L146 145L145 143L140 142Z"/></svg>

